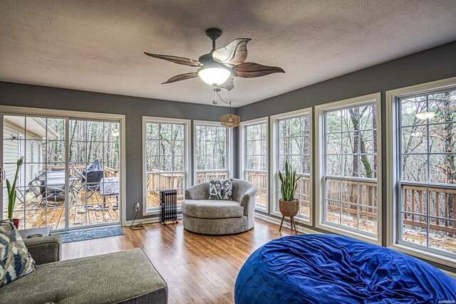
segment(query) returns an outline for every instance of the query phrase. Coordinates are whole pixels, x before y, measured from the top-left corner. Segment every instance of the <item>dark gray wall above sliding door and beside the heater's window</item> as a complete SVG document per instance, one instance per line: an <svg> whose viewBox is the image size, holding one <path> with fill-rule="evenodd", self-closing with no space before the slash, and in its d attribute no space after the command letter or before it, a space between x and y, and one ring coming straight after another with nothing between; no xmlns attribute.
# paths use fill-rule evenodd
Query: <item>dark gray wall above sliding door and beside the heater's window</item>
<svg viewBox="0 0 456 304"><path fill-rule="evenodd" d="M226 114L228 110L225 107L209 105L210 101L208 100L208 105L199 105L0 82L0 105L125 115L126 218L128 221L135 216L135 203L142 201L142 116L219 121L220 116ZM237 132L234 132L233 140L237 147ZM236 159L234 164L236 166L234 174L237 174ZM138 214L138 219L141 218L142 211Z"/></svg>

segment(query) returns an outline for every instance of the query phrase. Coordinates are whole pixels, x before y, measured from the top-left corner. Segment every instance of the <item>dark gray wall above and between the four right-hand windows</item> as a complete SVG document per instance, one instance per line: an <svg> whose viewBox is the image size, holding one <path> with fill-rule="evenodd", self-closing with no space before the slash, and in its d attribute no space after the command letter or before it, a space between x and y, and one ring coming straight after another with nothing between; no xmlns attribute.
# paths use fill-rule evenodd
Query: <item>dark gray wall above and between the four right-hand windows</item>
<svg viewBox="0 0 456 304"><path fill-rule="evenodd" d="M331 103L371 93L381 93L382 134L386 134L385 122L385 92L396 88L403 88L420 83L428 83L434 80L456 76L456 41L443 46L431 48L427 51L415 53L410 56L388 61L371 68L358 70L354 73L343 75L338 78L309 85L308 87L294 90L283 95L261 100L257 103L245 105L237 109L237 115L242 121L254 118L266 117L279 113L314 107L323 103ZM315 112L315 110L314 110ZM315 117L315 115L314 115ZM314 130L315 130L314 120ZM314 142L315 144L315 142ZM388 183L386 177L386 139L381 140L382 148L382 182ZM314 154L314 159L315 154ZM315 167L314 167L315 172ZM314 185L315 187L315 185ZM315 193L315 188L314 188ZM382 196L388 197L385 187ZM314 197L315 203L316 197ZM315 206L315 205L314 205ZM386 245L386 204L383 206L383 246ZM314 208L314 219L315 219ZM311 229L315 228L315 224ZM456 269L452 269L456 271Z"/></svg>

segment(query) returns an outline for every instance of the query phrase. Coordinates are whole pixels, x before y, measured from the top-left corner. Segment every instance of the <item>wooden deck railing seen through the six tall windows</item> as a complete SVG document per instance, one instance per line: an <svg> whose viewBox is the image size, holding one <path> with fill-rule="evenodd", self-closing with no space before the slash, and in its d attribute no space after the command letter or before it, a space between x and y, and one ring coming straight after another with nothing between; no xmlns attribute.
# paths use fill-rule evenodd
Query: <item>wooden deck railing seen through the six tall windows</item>
<svg viewBox="0 0 456 304"><path fill-rule="evenodd" d="M158 172L157 172L158 173ZM183 174L151 174L147 183L148 189L157 189L160 175L162 189L184 189ZM197 182L207 179L226 178L225 172L202 172L197 174ZM248 171L247 179L258 187L257 204L265 204L269 189L266 172ZM151 187L151 188L149 188ZM298 192L301 203L301 213L310 207L310 177L299 179ZM377 183L371 181L356 181L347 179L326 179L326 199L329 212L377 221L378 199ZM430 204L427 214L427 192ZM456 190L436 187L421 187L417 185L403 186L403 224L456 234ZM158 201L158 197L154 201ZM157 202L155 202L157 204ZM429 223L427 223L429 221Z"/></svg>

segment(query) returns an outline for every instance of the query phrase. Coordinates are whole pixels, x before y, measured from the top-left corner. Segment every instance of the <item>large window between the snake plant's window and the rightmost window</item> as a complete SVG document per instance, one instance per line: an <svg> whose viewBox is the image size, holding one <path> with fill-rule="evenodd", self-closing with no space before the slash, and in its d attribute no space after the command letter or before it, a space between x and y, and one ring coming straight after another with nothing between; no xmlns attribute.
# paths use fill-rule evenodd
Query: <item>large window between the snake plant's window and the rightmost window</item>
<svg viewBox="0 0 456 304"><path fill-rule="evenodd" d="M375 94L317 107L319 226L377 242L379 102Z"/></svg>

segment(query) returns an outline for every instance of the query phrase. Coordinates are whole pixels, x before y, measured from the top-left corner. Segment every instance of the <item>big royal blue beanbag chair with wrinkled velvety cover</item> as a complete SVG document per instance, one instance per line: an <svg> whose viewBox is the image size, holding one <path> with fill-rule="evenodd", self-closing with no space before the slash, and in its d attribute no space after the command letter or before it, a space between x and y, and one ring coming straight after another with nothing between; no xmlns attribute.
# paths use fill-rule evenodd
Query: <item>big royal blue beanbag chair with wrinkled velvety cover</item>
<svg viewBox="0 0 456 304"><path fill-rule="evenodd" d="M237 304L454 303L456 280L428 263L336 235L285 236L242 266Z"/></svg>

